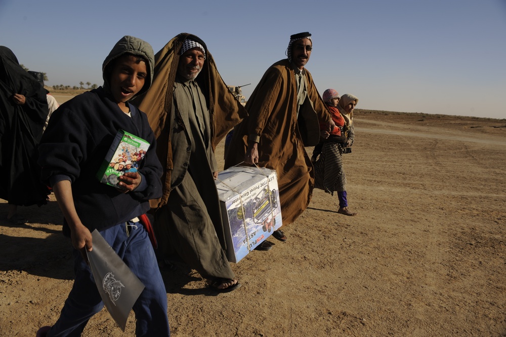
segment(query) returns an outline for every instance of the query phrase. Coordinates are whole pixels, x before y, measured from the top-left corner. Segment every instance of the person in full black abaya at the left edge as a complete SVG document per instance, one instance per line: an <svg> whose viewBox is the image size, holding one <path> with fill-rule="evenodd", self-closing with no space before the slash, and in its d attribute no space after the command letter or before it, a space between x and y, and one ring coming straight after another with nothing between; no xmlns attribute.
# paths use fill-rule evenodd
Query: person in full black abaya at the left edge
<svg viewBox="0 0 506 337"><path fill-rule="evenodd" d="M26 222L17 206L43 205L48 188L40 183L37 146L48 116L46 91L0 46L0 198L9 202L7 219Z"/></svg>

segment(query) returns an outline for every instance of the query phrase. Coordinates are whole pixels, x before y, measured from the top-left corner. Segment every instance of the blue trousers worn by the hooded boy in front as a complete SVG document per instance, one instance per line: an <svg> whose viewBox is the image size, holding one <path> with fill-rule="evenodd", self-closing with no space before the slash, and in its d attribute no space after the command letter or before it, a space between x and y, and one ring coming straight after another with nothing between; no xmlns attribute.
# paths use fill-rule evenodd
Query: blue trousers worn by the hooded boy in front
<svg viewBox="0 0 506 337"><path fill-rule="evenodd" d="M126 229L128 226L128 231ZM129 233L130 232L130 233ZM140 222L126 222L100 231L105 241L145 285L134 304L137 336L170 336L167 292L161 278L153 246ZM90 267L76 249L75 280L60 318L48 337L80 336L88 320L104 307Z"/></svg>

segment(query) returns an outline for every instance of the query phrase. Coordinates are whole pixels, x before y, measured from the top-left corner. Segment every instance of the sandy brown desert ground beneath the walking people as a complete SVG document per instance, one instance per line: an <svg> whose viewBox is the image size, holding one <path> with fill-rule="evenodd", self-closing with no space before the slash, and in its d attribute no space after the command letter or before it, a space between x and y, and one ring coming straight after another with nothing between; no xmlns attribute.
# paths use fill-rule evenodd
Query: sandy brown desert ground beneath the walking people
<svg viewBox="0 0 506 337"><path fill-rule="evenodd" d="M173 336L506 336L506 120L362 111L355 123L344 165L359 214L315 190L288 241L233 264L230 293L182 264L162 270ZM22 208L22 226L0 220L0 336L55 322L72 286L54 200ZM134 328L104 309L83 335Z"/></svg>

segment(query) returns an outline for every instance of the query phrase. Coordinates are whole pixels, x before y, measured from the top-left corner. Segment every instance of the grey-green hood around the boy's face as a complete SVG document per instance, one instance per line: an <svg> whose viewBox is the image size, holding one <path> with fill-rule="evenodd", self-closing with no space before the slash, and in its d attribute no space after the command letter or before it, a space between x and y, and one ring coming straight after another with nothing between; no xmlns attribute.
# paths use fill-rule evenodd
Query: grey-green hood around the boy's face
<svg viewBox="0 0 506 337"><path fill-rule="evenodd" d="M142 87L142 89L137 93L137 95L141 95L146 91L148 91L149 87L151 87L151 83L153 82L153 67L155 63L154 52L153 48L149 43L129 35L123 36L114 45L109 55L105 58L104 64L102 64L102 77L104 79L104 89L109 90L109 76L111 69L109 69L110 67L108 68L108 65L111 63L112 60L124 54L142 56L143 58L148 60L148 64L146 64L148 68L147 69L148 79L144 83L144 87Z"/></svg>

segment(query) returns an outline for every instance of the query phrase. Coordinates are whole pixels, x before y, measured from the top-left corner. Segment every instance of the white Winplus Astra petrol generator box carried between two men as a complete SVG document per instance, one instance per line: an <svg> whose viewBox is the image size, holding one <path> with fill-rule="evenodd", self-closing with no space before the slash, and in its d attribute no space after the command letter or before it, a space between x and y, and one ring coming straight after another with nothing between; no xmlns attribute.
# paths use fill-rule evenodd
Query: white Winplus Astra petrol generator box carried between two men
<svg viewBox="0 0 506 337"><path fill-rule="evenodd" d="M234 166L218 174L227 258L237 263L282 225L276 171Z"/></svg>

